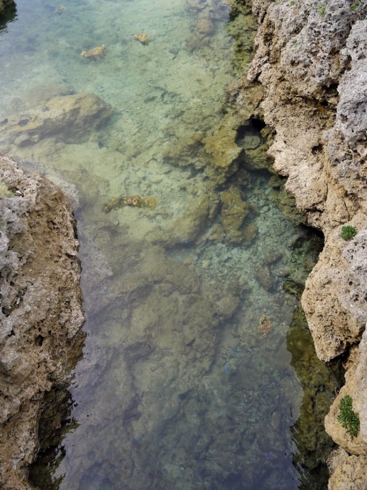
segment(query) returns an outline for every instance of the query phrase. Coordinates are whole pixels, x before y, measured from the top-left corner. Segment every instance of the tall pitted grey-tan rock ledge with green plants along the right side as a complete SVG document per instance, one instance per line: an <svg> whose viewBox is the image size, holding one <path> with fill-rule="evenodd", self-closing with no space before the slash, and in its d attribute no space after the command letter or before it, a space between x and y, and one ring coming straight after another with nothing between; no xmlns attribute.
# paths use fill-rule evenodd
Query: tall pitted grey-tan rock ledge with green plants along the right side
<svg viewBox="0 0 367 490"><path fill-rule="evenodd" d="M264 121L274 128L269 154L298 209L325 237L302 305L321 360L350 349L346 385L326 417L327 432L346 450L329 489L365 489L367 5L253 0L252 10L260 26L247 77L264 90ZM340 236L342 225L358 231L350 242ZM346 393L361 420L354 439L336 419Z"/></svg>

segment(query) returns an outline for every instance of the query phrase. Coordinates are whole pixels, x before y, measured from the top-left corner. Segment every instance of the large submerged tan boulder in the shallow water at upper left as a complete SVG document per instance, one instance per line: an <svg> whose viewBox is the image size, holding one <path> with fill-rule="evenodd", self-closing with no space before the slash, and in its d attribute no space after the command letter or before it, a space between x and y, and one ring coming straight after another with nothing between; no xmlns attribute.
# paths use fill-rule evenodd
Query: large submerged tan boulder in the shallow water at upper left
<svg viewBox="0 0 367 490"><path fill-rule="evenodd" d="M37 108L6 118L1 125L2 140L18 146L33 145L49 137L80 143L110 115L111 108L94 94L55 97Z"/></svg>

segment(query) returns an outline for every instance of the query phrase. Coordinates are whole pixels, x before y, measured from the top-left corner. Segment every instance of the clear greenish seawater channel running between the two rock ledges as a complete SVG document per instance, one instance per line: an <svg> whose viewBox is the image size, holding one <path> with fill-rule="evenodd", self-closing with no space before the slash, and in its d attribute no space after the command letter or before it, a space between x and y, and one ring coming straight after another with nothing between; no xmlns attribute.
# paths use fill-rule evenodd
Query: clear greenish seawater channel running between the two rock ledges
<svg viewBox="0 0 367 490"><path fill-rule="evenodd" d="M238 128L231 172L212 166L226 87L251 56L249 8L16 3L0 31L0 148L69 196L87 318L30 480L326 488L322 422L338 381L299 307L322 238L271 172L259 119Z"/></svg>

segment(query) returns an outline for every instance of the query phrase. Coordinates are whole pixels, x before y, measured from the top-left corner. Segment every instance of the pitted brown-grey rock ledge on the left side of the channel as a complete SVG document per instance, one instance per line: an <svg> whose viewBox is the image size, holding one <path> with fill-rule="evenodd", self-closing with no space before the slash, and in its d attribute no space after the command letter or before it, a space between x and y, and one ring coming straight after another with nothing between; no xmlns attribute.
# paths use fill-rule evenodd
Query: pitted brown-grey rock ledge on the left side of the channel
<svg viewBox="0 0 367 490"><path fill-rule="evenodd" d="M22 490L44 393L78 356L84 315L67 198L1 153L0 181L0 487Z"/></svg>

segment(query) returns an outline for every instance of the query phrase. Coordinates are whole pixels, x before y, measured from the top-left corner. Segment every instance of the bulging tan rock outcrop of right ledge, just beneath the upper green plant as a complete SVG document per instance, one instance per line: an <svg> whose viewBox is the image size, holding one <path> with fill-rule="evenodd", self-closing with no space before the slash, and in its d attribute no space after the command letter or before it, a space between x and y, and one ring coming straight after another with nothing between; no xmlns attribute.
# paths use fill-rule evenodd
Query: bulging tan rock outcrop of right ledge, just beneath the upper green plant
<svg viewBox="0 0 367 490"><path fill-rule="evenodd" d="M363 293L367 217L356 215L350 223L361 231L350 242L341 238L341 227L329 234L301 299L317 355L323 361L360 340L367 322Z"/></svg>

